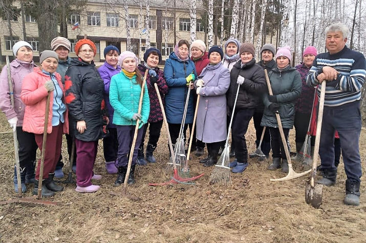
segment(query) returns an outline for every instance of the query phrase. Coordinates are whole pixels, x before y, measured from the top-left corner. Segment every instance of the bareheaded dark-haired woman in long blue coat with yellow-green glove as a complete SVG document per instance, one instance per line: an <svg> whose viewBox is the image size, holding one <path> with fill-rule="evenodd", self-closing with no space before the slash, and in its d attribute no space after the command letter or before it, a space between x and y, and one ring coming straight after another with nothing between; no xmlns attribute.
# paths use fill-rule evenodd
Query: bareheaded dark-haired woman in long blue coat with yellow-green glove
<svg viewBox="0 0 366 243"><path fill-rule="evenodd" d="M171 142L175 144L179 137L180 125L183 119L184 104L188 92L193 89L193 81L197 77L195 63L189 58L189 43L180 40L174 52L165 61L164 77L169 87L165 95L165 113L169 125ZM193 94L189 95L187 116L184 122L184 132L188 124L193 123Z"/></svg>

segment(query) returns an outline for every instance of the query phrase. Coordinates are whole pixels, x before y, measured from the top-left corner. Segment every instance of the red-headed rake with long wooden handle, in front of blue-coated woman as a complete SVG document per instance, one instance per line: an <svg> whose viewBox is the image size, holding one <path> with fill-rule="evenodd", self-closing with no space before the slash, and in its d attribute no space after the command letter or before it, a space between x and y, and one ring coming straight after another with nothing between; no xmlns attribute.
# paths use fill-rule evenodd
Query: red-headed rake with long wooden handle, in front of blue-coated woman
<svg viewBox="0 0 366 243"><path fill-rule="evenodd" d="M175 154L175 151L173 150L173 144L171 143L169 125L168 125L168 122L166 121L164 106L163 106L163 102L161 100L161 96L160 96L160 92L159 92L157 84L155 84L155 90L156 90L156 93L158 95L158 99L159 99L159 103L160 103L160 107L161 107L161 112L163 114L165 129L166 129L167 136L168 136L169 149L170 149L170 153L172 154L172 156L170 157L170 160L173 162L172 165L173 165L174 175L167 182L164 182L164 183L149 183L148 185L149 186L165 186L165 185L169 185L169 184L178 184L178 183L192 184L192 183L188 183L188 182L196 180L196 179L200 178L201 176L203 176L204 174L200 174L200 175L197 175L197 176L192 177L192 178L181 178L179 176L178 169L177 169L177 163L176 163L176 156L173 156L173 154ZM184 143L183 143L183 145L184 145ZM183 146L183 151L184 151L184 146Z"/></svg>

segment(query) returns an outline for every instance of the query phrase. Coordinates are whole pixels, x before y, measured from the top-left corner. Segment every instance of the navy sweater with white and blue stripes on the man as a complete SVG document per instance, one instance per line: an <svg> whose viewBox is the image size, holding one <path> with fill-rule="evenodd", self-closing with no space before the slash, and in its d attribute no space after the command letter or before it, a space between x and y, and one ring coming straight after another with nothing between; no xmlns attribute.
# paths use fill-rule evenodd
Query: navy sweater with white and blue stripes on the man
<svg viewBox="0 0 366 243"><path fill-rule="evenodd" d="M361 53L345 46L336 54L327 52L317 55L307 76L309 86L319 84L316 77L325 66L339 72L336 80L327 82L325 106L339 106L361 99L361 88L366 77L366 60ZM318 97L320 89L321 85L317 89Z"/></svg>

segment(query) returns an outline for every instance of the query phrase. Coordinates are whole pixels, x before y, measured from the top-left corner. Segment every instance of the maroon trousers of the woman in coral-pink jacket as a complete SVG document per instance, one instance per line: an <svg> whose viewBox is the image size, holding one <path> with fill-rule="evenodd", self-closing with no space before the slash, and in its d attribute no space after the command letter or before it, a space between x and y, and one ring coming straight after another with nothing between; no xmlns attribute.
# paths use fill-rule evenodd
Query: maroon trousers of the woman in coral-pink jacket
<svg viewBox="0 0 366 243"><path fill-rule="evenodd" d="M47 179L48 174L55 172L56 164L60 158L62 148L63 123L52 126L52 131L47 134L47 142L45 148L45 163L43 169L43 178ZM43 134L35 134L35 141L40 151L42 151ZM40 160L36 171L36 180L39 180Z"/></svg>

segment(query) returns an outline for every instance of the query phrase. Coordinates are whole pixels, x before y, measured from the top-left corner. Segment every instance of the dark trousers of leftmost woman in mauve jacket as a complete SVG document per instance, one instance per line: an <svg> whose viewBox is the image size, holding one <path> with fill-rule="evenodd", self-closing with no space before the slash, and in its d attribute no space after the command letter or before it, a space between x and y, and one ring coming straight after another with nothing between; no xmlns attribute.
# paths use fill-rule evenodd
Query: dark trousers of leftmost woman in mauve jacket
<svg viewBox="0 0 366 243"><path fill-rule="evenodd" d="M34 134L23 131L22 126L16 127L16 136L18 139L19 167L21 173L21 182L25 181L25 176L30 175L34 178L35 160L38 145ZM16 173L14 173L14 183L17 183Z"/></svg>

